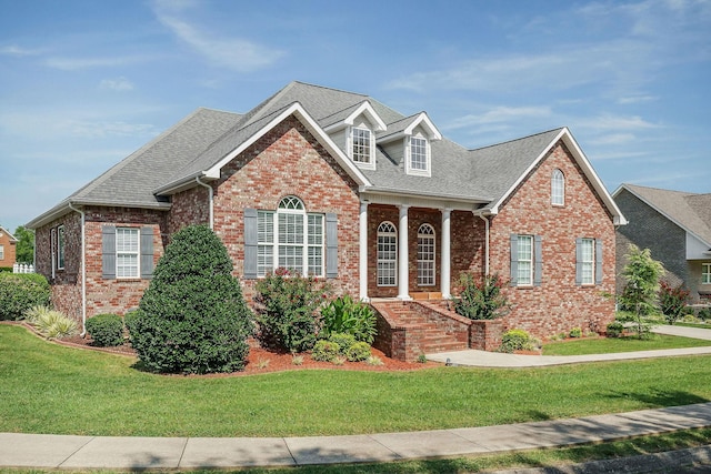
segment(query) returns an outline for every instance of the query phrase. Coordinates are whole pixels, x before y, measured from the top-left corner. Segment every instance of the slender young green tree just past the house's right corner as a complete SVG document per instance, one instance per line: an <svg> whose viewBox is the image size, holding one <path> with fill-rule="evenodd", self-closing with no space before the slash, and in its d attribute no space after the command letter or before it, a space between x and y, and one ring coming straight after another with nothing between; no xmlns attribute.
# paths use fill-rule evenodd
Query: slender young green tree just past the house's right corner
<svg viewBox="0 0 711 474"><path fill-rule="evenodd" d="M627 259L628 263L622 270L627 284L620 300L624 307L633 312L635 332L642 339L650 330L645 316L657 307L659 279L664 274L664 266L652 259L649 249L640 250L634 244L630 244Z"/></svg>

